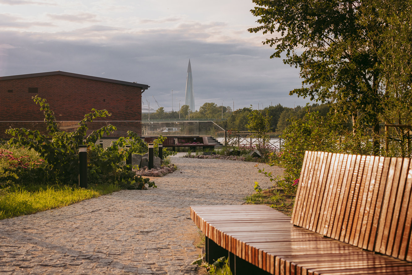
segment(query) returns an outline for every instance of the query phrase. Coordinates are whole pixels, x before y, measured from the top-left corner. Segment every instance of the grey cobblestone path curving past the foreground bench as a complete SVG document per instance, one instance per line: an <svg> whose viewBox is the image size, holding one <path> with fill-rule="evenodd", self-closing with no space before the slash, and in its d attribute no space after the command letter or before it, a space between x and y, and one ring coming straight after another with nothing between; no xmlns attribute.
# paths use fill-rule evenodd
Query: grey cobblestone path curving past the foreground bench
<svg viewBox="0 0 412 275"><path fill-rule="evenodd" d="M190 206L243 204L255 181L271 183L252 162L172 161L176 172L152 178L158 188L0 221L0 275L198 274L190 265L201 254Z"/></svg>

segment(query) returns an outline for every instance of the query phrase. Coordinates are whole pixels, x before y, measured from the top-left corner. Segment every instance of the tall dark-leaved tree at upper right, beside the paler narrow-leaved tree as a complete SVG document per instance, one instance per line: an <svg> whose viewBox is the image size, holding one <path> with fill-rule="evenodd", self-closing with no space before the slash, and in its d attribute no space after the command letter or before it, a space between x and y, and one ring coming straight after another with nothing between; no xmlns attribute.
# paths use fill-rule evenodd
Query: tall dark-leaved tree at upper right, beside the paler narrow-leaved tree
<svg viewBox="0 0 412 275"><path fill-rule="evenodd" d="M382 69L377 52L385 22L377 0L253 0L260 17L250 32L278 33L263 44L275 46L273 57L300 68L302 88L290 94L330 103L352 115L354 133L367 125L379 153L379 115L383 111Z"/></svg>

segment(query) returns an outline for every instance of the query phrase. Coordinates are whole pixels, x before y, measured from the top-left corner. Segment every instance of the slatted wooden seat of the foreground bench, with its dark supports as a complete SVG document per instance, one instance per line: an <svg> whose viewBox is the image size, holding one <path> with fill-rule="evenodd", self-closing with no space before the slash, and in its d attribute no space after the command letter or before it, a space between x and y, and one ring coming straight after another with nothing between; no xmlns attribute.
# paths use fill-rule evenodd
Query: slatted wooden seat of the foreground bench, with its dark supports
<svg viewBox="0 0 412 275"><path fill-rule="evenodd" d="M233 274L369 274L378 266L381 275L412 274L411 263L293 226L265 205L192 206L191 218L206 235L210 262L229 257Z"/></svg>

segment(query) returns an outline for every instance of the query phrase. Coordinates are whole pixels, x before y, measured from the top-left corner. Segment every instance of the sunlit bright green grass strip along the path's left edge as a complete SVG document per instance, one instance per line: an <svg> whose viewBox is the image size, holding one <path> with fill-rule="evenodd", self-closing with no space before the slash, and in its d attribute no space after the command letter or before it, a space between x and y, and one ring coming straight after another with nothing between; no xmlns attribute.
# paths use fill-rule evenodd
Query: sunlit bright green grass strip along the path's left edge
<svg viewBox="0 0 412 275"><path fill-rule="evenodd" d="M118 190L120 188L115 185L101 185L89 189L45 185L7 187L0 189L0 219L63 207Z"/></svg>

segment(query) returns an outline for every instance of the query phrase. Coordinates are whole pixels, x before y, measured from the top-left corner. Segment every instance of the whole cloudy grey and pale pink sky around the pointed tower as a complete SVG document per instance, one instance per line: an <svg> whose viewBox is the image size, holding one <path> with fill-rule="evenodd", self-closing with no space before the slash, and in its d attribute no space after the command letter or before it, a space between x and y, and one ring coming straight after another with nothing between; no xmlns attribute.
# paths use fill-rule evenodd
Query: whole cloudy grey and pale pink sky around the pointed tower
<svg viewBox="0 0 412 275"><path fill-rule="evenodd" d="M270 59L251 0L0 0L0 76L66 71L149 85L143 101L166 111L304 106L290 96L299 70ZM173 98L172 98L173 90Z"/></svg>

